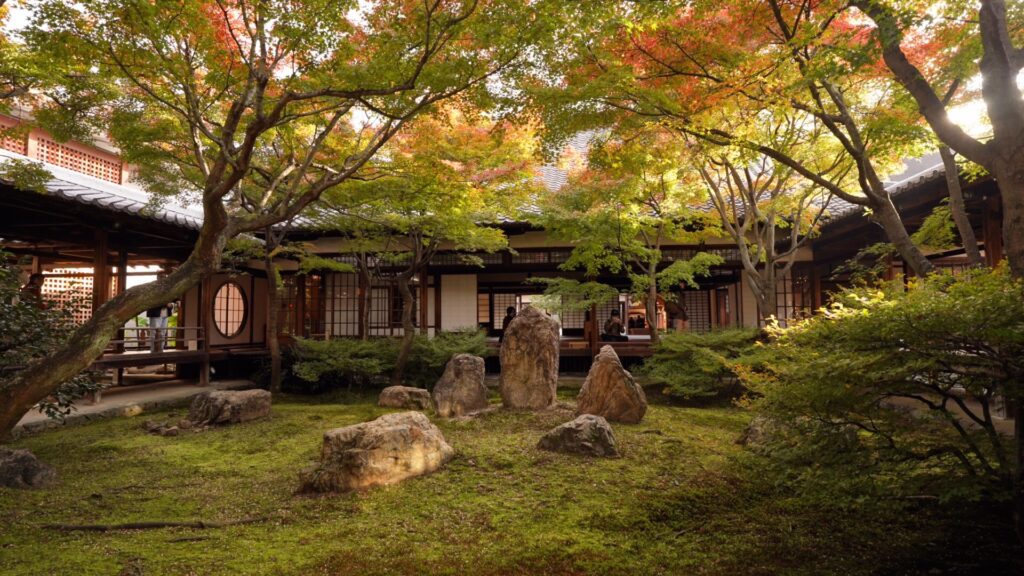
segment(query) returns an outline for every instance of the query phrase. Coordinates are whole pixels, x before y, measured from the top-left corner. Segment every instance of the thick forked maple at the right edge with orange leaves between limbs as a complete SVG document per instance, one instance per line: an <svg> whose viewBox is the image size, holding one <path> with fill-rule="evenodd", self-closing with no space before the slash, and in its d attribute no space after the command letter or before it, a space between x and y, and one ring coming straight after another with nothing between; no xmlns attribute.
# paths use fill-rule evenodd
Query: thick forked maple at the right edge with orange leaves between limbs
<svg viewBox="0 0 1024 576"><path fill-rule="evenodd" d="M1024 14L1001 0L946 3L938 16L926 3L851 4L873 20L871 38L882 60L938 138L994 176L1007 259L1015 276L1024 276L1024 92L1018 82L1024 69ZM950 51L968 57L951 58ZM976 75L991 124L987 139L970 135L949 118L947 94Z"/></svg>

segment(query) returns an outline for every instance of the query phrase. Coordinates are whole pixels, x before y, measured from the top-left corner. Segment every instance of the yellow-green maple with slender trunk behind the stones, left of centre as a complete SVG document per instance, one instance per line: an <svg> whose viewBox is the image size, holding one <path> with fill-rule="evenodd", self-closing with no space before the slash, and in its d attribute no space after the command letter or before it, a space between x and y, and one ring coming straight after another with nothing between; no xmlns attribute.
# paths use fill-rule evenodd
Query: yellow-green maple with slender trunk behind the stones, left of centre
<svg viewBox="0 0 1024 576"><path fill-rule="evenodd" d="M447 108L410 125L316 209L318 225L351 238L342 250L357 256L365 278L372 262L401 295L393 385L402 383L416 334L413 283L438 250L466 252L472 262L472 252L507 247L497 224L532 192L531 127L468 113Z"/></svg>

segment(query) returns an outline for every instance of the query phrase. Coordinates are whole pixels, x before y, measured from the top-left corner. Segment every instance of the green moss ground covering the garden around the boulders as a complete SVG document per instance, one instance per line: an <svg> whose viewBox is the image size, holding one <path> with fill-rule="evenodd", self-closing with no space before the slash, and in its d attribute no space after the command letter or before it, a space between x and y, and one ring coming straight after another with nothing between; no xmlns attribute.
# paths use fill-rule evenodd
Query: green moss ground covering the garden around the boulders
<svg viewBox="0 0 1024 576"><path fill-rule="evenodd" d="M0 489L0 573L913 574L936 554L938 573L977 568L949 545L970 545L956 515L826 509L772 486L734 444L748 419L734 408L653 405L642 424L614 425L624 457L605 460L535 448L564 410L438 421L458 452L441 471L366 493L295 493L324 430L384 412L369 396L282 397L269 420L177 438L141 429L175 417L162 412L25 439L16 446L60 483ZM252 517L268 520L41 527Z"/></svg>

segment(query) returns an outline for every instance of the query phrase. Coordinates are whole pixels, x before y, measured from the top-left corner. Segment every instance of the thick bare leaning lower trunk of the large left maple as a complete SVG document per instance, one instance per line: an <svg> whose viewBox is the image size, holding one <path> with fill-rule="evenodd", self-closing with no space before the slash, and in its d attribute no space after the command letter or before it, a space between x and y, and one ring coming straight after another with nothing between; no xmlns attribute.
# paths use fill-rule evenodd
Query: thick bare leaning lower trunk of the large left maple
<svg viewBox="0 0 1024 576"><path fill-rule="evenodd" d="M142 311L181 297L204 276L216 272L228 238L226 228L223 208L208 207L196 246L177 270L108 300L58 349L0 383L0 439L9 439L11 430L33 406L88 368L125 322Z"/></svg>

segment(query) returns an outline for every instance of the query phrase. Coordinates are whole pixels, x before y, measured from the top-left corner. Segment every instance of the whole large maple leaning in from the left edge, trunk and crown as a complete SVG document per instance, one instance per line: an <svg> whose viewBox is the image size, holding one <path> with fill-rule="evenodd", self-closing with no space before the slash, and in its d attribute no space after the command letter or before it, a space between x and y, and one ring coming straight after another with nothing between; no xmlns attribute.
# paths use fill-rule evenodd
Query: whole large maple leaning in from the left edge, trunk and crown
<svg viewBox="0 0 1024 576"><path fill-rule="evenodd" d="M227 241L285 221L435 104L494 101L566 11L512 0L43 0L23 32L113 82L94 114L154 194L202 207L171 274L103 304L0 385L0 434L87 367L140 311L216 272ZM47 369L40 369L46 366Z"/></svg>

